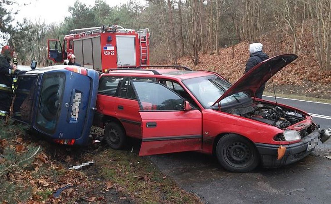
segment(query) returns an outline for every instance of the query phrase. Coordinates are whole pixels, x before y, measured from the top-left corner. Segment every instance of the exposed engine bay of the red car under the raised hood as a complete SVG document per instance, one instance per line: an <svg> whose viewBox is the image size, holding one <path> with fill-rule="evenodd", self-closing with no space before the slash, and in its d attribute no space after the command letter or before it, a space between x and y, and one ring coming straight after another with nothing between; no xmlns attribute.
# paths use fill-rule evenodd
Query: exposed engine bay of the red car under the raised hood
<svg viewBox="0 0 331 204"><path fill-rule="evenodd" d="M257 120L280 129L285 129L305 120L306 118L305 115L298 113L295 110L265 103L253 103L247 107L233 108L226 112Z"/></svg>

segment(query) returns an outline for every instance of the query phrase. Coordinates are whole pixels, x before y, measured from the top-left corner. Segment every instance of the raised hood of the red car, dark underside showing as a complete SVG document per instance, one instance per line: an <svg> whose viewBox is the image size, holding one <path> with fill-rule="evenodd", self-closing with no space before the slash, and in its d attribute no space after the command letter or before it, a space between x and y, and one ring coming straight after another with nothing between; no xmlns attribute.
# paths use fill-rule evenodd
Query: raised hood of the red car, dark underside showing
<svg viewBox="0 0 331 204"><path fill-rule="evenodd" d="M213 105L220 102L222 99L239 92L245 92L249 96L254 96L255 92L262 84L267 82L274 74L297 58L298 56L294 54L284 54L262 61L244 74L221 97L219 97Z"/></svg>

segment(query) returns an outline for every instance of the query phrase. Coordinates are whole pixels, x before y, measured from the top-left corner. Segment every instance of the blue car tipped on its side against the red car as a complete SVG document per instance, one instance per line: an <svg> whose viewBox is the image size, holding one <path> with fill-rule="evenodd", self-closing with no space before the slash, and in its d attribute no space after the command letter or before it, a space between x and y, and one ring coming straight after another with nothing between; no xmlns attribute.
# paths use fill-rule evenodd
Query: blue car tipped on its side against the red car
<svg viewBox="0 0 331 204"><path fill-rule="evenodd" d="M89 140L99 73L79 66L54 65L19 75L14 119L45 139L68 145Z"/></svg>

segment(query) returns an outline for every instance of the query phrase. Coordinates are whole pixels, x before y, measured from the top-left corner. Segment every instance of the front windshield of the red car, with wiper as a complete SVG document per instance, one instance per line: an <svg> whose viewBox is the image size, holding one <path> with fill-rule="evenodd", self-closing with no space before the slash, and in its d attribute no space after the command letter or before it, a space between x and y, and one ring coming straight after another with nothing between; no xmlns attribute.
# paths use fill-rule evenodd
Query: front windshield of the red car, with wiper
<svg viewBox="0 0 331 204"><path fill-rule="evenodd" d="M231 87L230 83L216 75L185 79L183 83L205 108L217 107L217 104L212 106L213 103ZM248 98L248 95L239 92L222 99L221 105L231 102L239 103L245 98Z"/></svg>

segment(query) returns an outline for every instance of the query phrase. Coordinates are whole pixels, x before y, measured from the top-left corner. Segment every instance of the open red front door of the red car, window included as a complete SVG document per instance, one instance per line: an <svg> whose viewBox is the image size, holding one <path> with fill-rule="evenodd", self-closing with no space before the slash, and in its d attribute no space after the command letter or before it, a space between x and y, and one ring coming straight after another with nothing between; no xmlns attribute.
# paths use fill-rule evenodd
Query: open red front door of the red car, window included
<svg viewBox="0 0 331 204"><path fill-rule="evenodd" d="M139 156L201 149L202 113L166 86L131 81L142 120Z"/></svg>

